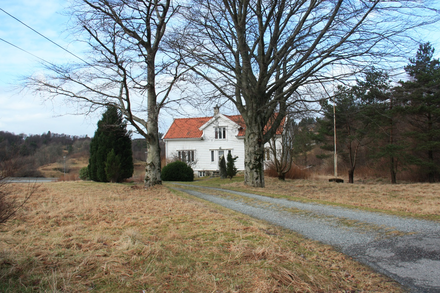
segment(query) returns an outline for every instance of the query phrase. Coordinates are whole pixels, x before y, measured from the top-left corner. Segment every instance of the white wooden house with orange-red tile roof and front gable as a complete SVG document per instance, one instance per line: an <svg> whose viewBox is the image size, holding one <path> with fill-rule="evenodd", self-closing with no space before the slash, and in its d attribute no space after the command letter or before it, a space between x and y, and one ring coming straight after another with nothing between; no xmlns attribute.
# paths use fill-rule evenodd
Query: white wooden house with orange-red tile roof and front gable
<svg viewBox="0 0 440 293"><path fill-rule="evenodd" d="M228 153L238 156L235 166L244 170L245 123L241 115L223 115L220 107L214 107L214 116L174 119L165 141L166 158L180 159L192 166L198 177L206 171L218 171L219 158ZM277 134L279 134L277 132ZM264 159L269 159L269 143L265 145Z"/></svg>

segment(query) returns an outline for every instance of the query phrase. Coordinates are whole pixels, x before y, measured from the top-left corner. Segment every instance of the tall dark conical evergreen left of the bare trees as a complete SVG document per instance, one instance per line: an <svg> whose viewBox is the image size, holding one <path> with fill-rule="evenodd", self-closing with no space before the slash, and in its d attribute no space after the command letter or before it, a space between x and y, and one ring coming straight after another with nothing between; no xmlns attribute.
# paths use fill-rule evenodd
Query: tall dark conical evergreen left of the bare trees
<svg viewBox="0 0 440 293"><path fill-rule="evenodd" d="M112 181L121 182L132 177L132 140L121 112L114 107L107 107L97 126L98 129L90 142L90 159L88 160L90 180L109 181L106 162L107 156L112 150L114 156L118 156L120 163L120 169L117 171L118 176ZM109 169L107 168L107 170Z"/></svg>

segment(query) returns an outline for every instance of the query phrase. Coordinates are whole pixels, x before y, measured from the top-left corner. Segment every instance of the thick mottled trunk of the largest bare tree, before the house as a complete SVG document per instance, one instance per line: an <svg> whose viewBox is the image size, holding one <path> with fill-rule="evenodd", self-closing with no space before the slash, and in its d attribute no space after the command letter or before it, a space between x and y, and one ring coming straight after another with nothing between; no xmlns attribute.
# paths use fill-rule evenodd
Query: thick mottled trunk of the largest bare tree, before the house
<svg viewBox="0 0 440 293"><path fill-rule="evenodd" d="M264 187L264 142L263 128L257 123L246 123L245 134L245 184Z"/></svg>

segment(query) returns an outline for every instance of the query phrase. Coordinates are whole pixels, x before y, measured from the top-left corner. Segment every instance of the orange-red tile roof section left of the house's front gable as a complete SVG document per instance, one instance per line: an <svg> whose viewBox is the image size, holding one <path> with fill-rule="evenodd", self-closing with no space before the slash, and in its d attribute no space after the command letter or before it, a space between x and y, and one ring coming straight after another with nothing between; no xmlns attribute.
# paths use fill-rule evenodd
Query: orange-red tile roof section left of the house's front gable
<svg viewBox="0 0 440 293"><path fill-rule="evenodd" d="M198 130L213 117L177 118L174 119L169 130L163 137L167 138L199 138L203 131Z"/></svg>

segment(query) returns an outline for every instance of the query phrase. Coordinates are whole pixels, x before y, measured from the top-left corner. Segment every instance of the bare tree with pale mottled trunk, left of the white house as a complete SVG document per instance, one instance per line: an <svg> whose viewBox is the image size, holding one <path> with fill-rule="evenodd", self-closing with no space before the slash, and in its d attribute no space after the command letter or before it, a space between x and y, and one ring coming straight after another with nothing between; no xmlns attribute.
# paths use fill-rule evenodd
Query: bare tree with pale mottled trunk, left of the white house
<svg viewBox="0 0 440 293"><path fill-rule="evenodd" d="M159 111L185 72L163 53L161 40L179 6L171 0L71 0L70 4L70 29L89 48L87 61L46 64L45 72L50 73L26 78L25 87L47 100L62 96L77 114L106 106L119 109L147 139L145 186L161 184Z"/></svg>

